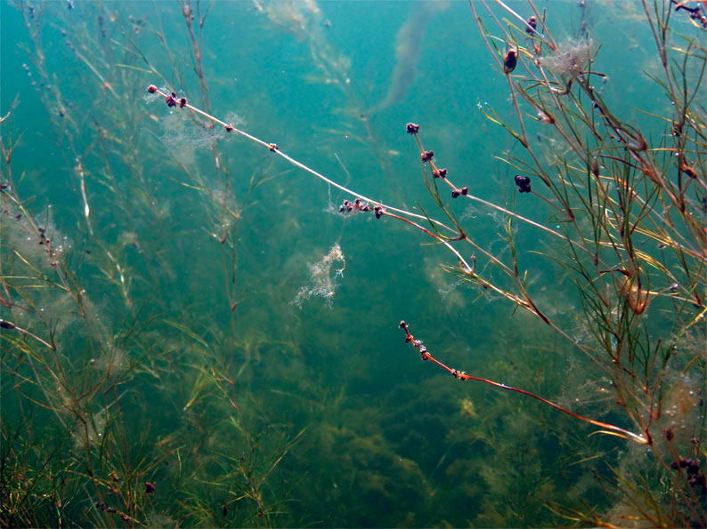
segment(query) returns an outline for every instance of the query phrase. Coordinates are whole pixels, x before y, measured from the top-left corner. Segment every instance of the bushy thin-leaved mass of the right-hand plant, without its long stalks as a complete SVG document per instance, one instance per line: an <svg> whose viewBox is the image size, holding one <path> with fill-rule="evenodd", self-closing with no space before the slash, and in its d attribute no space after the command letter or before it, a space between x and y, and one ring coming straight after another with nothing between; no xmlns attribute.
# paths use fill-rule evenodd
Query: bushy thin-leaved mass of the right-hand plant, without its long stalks
<svg viewBox="0 0 707 529"><path fill-rule="evenodd" d="M674 467L679 453L701 452L695 446L704 437L704 414L696 397L688 405L692 412L688 425L683 425L695 436L689 443L676 444L675 423L666 413L670 396L680 392L674 383L678 373L694 370L703 380L707 361L703 345L691 347L687 339L693 333L705 335L707 232L701 204L707 187L704 167L694 173L688 170L687 174L695 176L686 179L680 162L707 145L701 130L707 115L701 104L695 105L705 93L703 39L670 26L670 4L642 3L663 70L662 78L656 75L654 79L671 101L665 114L648 111L654 122L642 126L657 134L646 140L647 132L627 123L604 99L607 77L593 70L601 58L593 56L591 38L585 35L573 44L557 44L548 27L551 12L537 12L528 3L533 29L538 20L543 21L541 32L529 31L531 19L524 20L508 5L498 4L501 12L524 22L496 25L501 41L527 43L520 53L524 71L518 74L516 69L512 78L498 58L492 31L476 10L482 5L499 22L492 6L481 2L471 3L471 8L489 51L508 79L517 124L500 119L490 108L484 112L523 146L521 153L506 156L505 161L545 183L542 194L557 212L565 213L561 231L567 257L553 259L564 261L574 276L583 317L596 341L593 345L574 341L574 345L597 365L599 373L609 375L619 409L652 447L648 454L654 461L646 469L650 477L641 476L641 470L632 474L626 465L617 470L612 482L625 494L624 501L640 513L633 516L649 524L701 525L705 499L699 486L685 487L684 482L674 480L670 501L664 502L657 497L657 484L670 480L668 469ZM679 11L681 5L675 7ZM671 48L675 53L672 64L679 66L669 67L667 42L673 38L685 46ZM597 76L603 80L601 86L592 82ZM526 128L530 124L526 124L524 108L537 110L541 124L553 128L568 148L556 175L536 154L540 146ZM668 124L679 126L670 129ZM690 132L682 128L684 124ZM696 156L705 163L704 156ZM510 239L509 243L513 244ZM580 516L579 512L568 517L596 523L595 515ZM607 513L609 520L620 516Z"/></svg>

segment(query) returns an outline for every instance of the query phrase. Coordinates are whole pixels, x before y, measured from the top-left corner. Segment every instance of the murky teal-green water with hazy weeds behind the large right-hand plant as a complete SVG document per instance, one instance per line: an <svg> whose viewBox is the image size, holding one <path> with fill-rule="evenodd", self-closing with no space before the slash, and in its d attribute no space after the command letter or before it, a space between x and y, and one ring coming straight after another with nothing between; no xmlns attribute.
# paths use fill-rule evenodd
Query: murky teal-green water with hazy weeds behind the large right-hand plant
<svg viewBox="0 0 707 529"><path fill-rule="evenodd" d="M538 5L561 38L587 21L606 100L630 101L624 119L641 119L632 107L661 112L644 73L658 68L646 52L654 43L632 23L640 6L588 4ZM25 286L3 293L16 306L0 314L45 339L54 329L58 345L53 354L30 340L34 362L4 345L17 373L3 377L5 449L41 447L18 449L28 476L13 477L52 469L38 519L525 526L567 524L552 502L609 509L614 497L595 473L618 464L626 441L588 437L593 427L530 398L455 381L422 363L398 324L447 365L622 421L608 381L568 342L445 273L439 265L455 257L418 229L340 214L354 196L146 98L149 84L174 90L362 196L437 217L405 133L414 122L471 194L543 217L499 159L519 155L517 141L479 111L488 103L514 116L469 5L197 7L203 84L179 3L2 4L5 145L21 134L12 178L75 278L70 295L53 285L45 249L21 228L27 215L15 222L20 211L5 202L4 277L27 272L21 254L48 279L6 279ZM543 131L532 135L551 163L564 152ZM476 244L508 259L500 213L443 197ZM581 340L565 270L531 252L562 250L515 229L535 301ZM322 261L337 244L341 259ZM60 509L59 497L71 500Z"/></svg>

